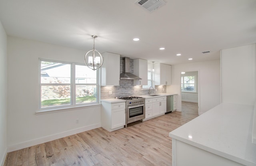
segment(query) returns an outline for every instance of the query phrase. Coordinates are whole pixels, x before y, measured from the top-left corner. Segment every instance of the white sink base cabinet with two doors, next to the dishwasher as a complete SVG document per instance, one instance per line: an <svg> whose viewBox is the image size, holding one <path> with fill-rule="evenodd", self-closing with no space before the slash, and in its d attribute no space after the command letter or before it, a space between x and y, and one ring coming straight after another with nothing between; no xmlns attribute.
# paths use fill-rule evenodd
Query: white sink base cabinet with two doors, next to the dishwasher
<svg viewBox="0 0 256 166"><path fill-rule="evenodd" d="M166 113L166 96L152 99L152 116Z"/></svg>

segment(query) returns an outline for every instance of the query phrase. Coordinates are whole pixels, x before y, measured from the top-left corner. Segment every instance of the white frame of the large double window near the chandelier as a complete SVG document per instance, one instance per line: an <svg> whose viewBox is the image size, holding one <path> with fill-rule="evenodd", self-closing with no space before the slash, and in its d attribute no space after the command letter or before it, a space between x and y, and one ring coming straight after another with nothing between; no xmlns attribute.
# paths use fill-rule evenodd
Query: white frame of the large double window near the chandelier
<svg viewBox="0 0 256 166"><path fill-rule="evenodd" d="M70 64L70 83L41 83L41 61L49 61L53 63L63 63L63 64ZM39 65L39 111L46 112L46 111L57 111L57 110L64 110L64 109L72 109L77 107L88 107L93 105L100 104L100 85L99 85L99 71L96 70L96 83L76 83L76 65L86 66L84 63L76 63L76 62L68 62L68 61L61 61L61 60L53 60L53 59L38 59ZM44 107L42 108L42 86L58 86L58 85L70 85L70 105L60 105L60 106L52 106L52 107ZM96 102L92 103L76 103L76 85L96 85Z"/></svg>

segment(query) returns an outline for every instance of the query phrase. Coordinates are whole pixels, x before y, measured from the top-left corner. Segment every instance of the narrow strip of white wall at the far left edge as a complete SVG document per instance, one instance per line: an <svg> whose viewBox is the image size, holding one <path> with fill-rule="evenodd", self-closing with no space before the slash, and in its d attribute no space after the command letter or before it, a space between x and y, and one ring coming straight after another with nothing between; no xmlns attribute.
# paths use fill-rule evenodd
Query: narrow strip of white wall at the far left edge
<svg viewBox="0 0 256 166"><path fill-rule="evenodd" d="M7 36L0 22L0 165L7 152Z"/></svg>

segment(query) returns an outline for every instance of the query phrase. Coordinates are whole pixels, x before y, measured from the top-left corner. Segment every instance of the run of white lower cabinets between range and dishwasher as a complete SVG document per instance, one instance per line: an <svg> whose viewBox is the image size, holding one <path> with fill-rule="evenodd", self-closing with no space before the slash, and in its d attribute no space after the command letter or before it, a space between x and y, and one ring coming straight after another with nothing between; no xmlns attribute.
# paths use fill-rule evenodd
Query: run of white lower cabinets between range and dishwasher
<svg viewBox="0 0 256 166"><path fill-rule="evenodd" d="M144 121L166 113L166 96L145 99Z"/></svg>

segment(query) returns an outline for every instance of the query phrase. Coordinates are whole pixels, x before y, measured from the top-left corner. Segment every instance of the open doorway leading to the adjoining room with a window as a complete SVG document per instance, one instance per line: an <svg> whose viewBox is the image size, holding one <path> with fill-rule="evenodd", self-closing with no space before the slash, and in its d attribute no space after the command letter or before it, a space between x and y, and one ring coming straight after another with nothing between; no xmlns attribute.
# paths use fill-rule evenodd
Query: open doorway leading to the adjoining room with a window
<svg viewBox="0 0 256 166"><path fill-rule="evenodd" d="M199 108L199 72L182 71L180 72L180 108L181 111L197 113L200 115Z"/></svg>

